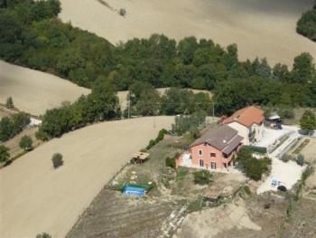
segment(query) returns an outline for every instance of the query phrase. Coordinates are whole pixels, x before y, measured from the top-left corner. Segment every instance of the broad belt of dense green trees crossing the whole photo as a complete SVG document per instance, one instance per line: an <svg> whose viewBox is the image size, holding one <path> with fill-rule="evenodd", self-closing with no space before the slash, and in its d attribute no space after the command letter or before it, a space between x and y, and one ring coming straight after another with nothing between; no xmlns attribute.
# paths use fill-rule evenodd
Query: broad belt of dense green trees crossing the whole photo
<svg viewBox="0 0 316 238"><path fill-rule="evenodd" d="M93 33L63 24L57 0L0 2L0 58L48 71L92 89L73 104L48 110L39 138L59 137L99 120L127 115L230 114L247 104L289 109L316 105L316 70L311 54L293 69L263 60L239 62L237 45L188 37L176 43L164 35L116 46ZM165 95L156 88L172 87ZM183 88L211 90L193 94ZM129 90L121 111L117 90Z"/></svg>

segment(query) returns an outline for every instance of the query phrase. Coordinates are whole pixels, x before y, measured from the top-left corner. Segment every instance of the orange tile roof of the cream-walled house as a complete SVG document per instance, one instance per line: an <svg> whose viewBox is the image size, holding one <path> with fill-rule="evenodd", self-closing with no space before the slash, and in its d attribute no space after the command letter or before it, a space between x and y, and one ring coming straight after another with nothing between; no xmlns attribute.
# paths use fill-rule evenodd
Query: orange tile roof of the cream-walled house
<svg viewBox="0 0 316 238"><path fill-rule="evenodd" d="M249 106L245 109L237 110L228 119L225 119L223 123L228 124L236 121L249 128L254 123L258 125L261 124L264 119L264 111L262 109L256 108L255 106Z"/></svg>

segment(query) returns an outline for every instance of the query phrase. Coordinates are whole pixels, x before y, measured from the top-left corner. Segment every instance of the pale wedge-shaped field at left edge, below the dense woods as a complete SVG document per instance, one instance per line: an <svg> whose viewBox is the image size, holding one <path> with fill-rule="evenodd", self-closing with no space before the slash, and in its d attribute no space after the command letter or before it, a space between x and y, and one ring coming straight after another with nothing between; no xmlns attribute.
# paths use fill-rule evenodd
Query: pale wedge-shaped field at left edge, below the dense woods
<svg viewBox="0 0 316 238"><path fill-rule="evenodd" d="M46 109L59 107L62 101L74 101L88 93L89 90L49 73L0 61L0 103L12 97L17 109L39 116Z"/></svg>

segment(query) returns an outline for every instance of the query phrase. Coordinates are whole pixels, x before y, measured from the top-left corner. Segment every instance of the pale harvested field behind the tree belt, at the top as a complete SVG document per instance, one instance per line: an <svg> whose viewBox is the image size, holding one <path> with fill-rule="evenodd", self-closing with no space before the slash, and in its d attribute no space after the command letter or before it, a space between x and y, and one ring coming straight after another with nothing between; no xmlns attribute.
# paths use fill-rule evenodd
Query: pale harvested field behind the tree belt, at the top
<svg viewBox="0 0 316 238"><path fill-rule="evenodd" d="M228 45L237 43L241 60L267 57L292 65L293 57L316 43L295 32L313 0L61 0L60 19L111 43L164 33L180 40L194 35ZM125 8L126 15L118 14Z"/></svg>

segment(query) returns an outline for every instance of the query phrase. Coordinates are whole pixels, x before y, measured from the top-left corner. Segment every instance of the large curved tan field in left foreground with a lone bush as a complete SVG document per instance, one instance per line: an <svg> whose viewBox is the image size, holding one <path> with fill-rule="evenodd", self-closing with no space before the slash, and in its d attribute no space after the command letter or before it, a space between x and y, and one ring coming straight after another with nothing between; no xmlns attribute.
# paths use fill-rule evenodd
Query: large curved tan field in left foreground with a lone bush
<svg viewBox="0 0 316 238"><path fill-rule="evenodd" d="M79 215L140 148L172 117L110 121L70 132L0 170L0 237L64 237ZM60 152L64 166L53 169Z"/></svg>

